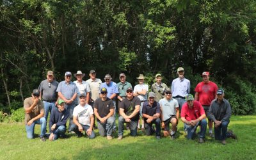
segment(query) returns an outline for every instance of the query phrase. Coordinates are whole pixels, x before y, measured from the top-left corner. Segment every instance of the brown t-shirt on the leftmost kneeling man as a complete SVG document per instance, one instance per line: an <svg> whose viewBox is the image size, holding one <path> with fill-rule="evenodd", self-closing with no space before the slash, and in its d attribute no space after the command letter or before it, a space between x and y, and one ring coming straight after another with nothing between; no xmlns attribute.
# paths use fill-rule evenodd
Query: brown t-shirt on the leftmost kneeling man
<svg viewBox="0 0 256 160"><path fill-rule="evenodd" d="M29 108L32 104L32 97L26 98L24 100L24 109ZM44 111L44 103L42 100L39 100L36 106L32 109L31 113L25 113L25 124L27 124L32 118L38 116L42 111Z"/></svg>

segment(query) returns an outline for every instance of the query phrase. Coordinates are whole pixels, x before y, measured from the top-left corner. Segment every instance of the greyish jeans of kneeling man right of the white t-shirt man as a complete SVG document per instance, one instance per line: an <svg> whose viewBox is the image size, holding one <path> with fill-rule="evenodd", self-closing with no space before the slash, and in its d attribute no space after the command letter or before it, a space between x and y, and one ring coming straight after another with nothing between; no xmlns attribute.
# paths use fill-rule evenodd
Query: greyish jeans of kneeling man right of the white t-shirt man
<svg viewBox="0 0 256 160"><path fill-rule="evenodd" d="M100 136L111 136L113 132L114 123L115 118L113 116L110 116L104 124L102 124L100 121L97 121ZM108 125L107 129L106 125Z"/></svg>

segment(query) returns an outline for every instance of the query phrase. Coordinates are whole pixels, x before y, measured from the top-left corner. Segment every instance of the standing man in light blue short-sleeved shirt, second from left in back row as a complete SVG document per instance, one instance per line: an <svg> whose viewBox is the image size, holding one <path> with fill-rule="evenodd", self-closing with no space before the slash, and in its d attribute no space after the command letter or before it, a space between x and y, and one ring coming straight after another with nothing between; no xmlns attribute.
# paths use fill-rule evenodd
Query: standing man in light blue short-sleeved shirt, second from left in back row
<svg viewBox="0 0 256 160"><path fill-rule="evenodd" d="M77 97L77 86L74 82L71 81L72 74L71 72L65 73L65 81L61 81L57 92L60 97L60 99L63 99L65 101L65 108L69 112L69 125L68 125L68 132L70 132L70 127L72 124L72 115L73 110L76 106L76 97Z"/></svg>

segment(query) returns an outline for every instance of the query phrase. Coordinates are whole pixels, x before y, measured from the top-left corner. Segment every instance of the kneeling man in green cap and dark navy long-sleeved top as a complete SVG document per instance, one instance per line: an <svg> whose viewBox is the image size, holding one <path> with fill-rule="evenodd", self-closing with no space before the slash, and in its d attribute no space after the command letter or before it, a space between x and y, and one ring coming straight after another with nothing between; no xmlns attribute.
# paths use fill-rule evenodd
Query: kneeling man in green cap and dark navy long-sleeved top
<svg viewBox="0 0 256 160"><path fill-rule="evenodd" d="M49 121L49 129L50 129L50 136L49 140L54 141L57 140L59 137L65 138L66 132L66 124L69 118L69 112L65 109L65 101L62 99L58 100L58 108L52 109L50 121Z"/></svg>

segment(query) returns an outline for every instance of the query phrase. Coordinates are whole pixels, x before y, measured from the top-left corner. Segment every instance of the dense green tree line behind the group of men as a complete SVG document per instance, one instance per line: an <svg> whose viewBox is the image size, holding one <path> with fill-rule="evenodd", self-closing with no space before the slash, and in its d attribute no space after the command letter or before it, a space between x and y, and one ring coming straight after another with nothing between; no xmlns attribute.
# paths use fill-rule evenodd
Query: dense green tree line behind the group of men
<svg viewBox="0 0 256 160"><path fill-rule="evenodd" d="M256 2L252 0L26 0L0 2L0 109L10 113L54 70L121 72L170 86L184 67L191 90L204 71L236 115L255 113Z"/></svg>

